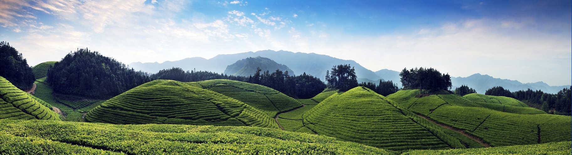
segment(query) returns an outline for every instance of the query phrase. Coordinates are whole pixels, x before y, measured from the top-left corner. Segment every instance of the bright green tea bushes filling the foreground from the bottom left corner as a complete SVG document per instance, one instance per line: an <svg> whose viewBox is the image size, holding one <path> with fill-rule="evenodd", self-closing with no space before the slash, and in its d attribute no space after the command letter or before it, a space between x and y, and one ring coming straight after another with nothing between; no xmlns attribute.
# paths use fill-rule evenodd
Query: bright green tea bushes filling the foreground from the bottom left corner
<svg viewBox="0 0 572 155"><path fill-rule="evenodd" d="M0 120L0 133L0 151L16 154L396 154L257 127Z"/></svg>

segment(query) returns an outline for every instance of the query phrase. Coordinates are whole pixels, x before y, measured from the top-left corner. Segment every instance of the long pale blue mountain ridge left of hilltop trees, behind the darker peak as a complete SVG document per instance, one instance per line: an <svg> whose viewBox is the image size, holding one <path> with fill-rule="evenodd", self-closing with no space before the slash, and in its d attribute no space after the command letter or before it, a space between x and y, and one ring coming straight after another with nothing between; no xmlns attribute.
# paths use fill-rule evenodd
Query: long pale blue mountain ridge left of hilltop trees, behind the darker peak
<svg viewBox="0 0 572 155"><path fill-rule="evenodd" d="M186 58L177 61L167 61L164 63L141 63L135 62L129 64L135 70L142 70L149 73L155 73L159 70L164 70L172 67L180 67L183 70L202 70L202 71L212 71L222 73L225 68L236 62L237 60L261 56L264 58L272 59L276 63L284 64L288 66L292 71L296 72L297 75L305 72L306 74L319 77L324 80L325 71L331 70L332 66L337 64L351 64L355 67L356 75L359 78L367 79L381 79L375 72L368 70L367 68L361 66L353 60L343 60L338 58L333 58L328 55L321 55L315 53L303 53L303 52L290 52L290 51L273 51L264 50L256 52L243 52L239 54L220 54L210 59L194 57Z"/></svg>

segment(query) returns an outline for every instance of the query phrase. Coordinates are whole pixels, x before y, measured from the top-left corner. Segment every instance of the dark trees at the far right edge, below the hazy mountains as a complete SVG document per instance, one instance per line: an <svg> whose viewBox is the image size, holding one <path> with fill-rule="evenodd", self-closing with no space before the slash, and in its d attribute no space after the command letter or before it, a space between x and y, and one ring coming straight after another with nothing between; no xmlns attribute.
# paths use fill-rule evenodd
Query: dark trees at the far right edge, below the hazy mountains
<svg viewBox="0 0 572 155"><path fill-rule="evenodd" d="M556 94L542 92L541 90L513 92L513 98L521 100L531 107L540 108L542 111L550 114L568 115L570 116L570 103L572 103L572 92L570 88L564 88Z"/></svg>

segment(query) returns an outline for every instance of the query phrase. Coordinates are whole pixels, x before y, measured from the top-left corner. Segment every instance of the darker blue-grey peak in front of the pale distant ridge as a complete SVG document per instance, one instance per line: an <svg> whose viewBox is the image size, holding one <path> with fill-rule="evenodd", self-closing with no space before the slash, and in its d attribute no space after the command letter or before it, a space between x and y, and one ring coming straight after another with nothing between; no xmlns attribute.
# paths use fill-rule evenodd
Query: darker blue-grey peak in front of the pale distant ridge
<svg viewBox="0 0 572 155"><path fill-rule="evenodd" d="M255 74L257 67L260 67L260 70L263 72L274 72L276 69L278 69L283 72L288 71L289 75L295 75L294 71L290 70L288 66L276 63L271 59L260 56L255 58L248 57L246 59L238 60L236 63L227 66L227 69L224 70L224 74L234 76L251 76Z"/></svg>

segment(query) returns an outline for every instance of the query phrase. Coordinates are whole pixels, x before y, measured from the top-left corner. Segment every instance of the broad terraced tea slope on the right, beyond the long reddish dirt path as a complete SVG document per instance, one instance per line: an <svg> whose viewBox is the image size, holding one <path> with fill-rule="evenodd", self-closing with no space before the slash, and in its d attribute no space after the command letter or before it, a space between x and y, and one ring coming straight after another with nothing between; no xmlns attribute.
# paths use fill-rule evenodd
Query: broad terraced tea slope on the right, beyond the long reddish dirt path
<svg viewBox="0 0 572 155"><path fill-rule="evenodd" d="M491 146L567 141L572 133L570 116L500 112L460 103L464 102L463 97L452 94L416 98L419 92L398 91L388 98L438 123L482 138Z"/></svg>

